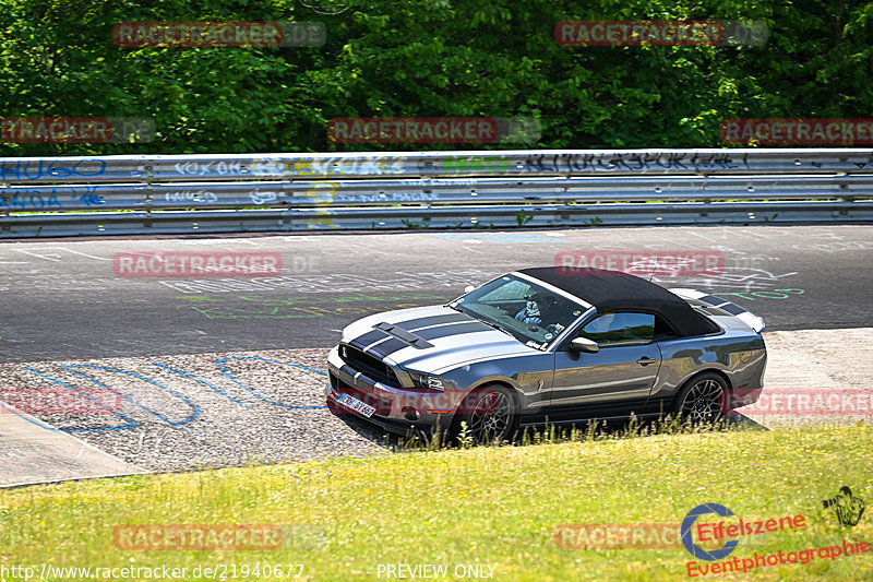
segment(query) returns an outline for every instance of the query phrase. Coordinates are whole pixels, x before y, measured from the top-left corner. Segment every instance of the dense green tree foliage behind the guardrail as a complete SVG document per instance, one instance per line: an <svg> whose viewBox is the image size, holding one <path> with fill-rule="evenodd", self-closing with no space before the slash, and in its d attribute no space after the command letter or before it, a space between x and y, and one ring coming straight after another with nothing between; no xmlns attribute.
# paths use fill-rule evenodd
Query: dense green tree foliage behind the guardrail
<svg viewBox="0 0 873 582"><path fill-rule="evenodd" d="M751 19L769 38L555 41L558 22L596 19ZM112 25L127 21L319 21L327 41L119 47ZM542 126L538 147L720 146L726 118L869 117L873 104L871 2L0 0L0 27L3 117L151 117L158 131L144 144L7 143L3 155L470 147L337 144L334 117L523 116Z"/></svg>

